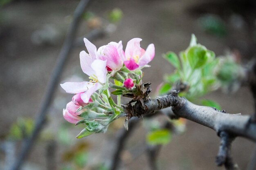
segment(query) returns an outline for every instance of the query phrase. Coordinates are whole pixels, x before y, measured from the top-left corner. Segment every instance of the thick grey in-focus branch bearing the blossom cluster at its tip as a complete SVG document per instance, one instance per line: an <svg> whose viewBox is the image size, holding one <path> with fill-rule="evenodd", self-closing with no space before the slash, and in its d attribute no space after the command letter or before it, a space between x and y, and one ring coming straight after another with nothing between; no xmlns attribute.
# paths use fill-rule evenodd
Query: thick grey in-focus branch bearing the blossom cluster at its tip
<svg viewBox="0 0 256 170"><path fill-rule="evenodd" d="M256 141L256 124L250 122L249 115L222 113L216 108L198 106L185 98L179 97L176 91L155 99L144 101L144 107L136 102L132 107L125 108L127 115L142 116L155 113L157 110L172 106L173 113L195 123L207 126L216 132L225 131L234 136L241 136Z"/></svg>

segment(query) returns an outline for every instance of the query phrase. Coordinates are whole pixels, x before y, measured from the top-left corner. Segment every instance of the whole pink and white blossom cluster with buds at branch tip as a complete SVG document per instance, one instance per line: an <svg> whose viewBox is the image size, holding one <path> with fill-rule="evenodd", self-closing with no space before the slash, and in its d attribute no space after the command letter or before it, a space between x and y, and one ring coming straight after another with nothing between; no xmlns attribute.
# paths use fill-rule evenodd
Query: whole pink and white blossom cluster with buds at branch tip
<svg viewBox="0 0 256 170"><path fill-rule="evenodd" d="M93 110L101 114L98 113L97 107L101 108L101 112L103 109L105 115L111 115L110 113L114 111L115 113L123 111L120 107L120 95L135 93L134 87L140 83L143 76L141 69L148 66L147 64L155 56L154 44L148 45L145 51L140 47L140 41L140 38L133 38L127 43L125 51L121 41L110 42L97 50L94 44L84 38L88 53L81 51L80 64L90 81L61 84L67 93L75 94L63 110L63 116L68 122L86 124L84 112L89 114L88 110ZM115 80L115 84L109 81L110 78ZM113 102L110 88L116 89L112 94L118 95L118 104ZM99 93L93 95L98 90ZM88 108L89 104L93 106ZM99 122L97 119L93 121Z"/></svg>

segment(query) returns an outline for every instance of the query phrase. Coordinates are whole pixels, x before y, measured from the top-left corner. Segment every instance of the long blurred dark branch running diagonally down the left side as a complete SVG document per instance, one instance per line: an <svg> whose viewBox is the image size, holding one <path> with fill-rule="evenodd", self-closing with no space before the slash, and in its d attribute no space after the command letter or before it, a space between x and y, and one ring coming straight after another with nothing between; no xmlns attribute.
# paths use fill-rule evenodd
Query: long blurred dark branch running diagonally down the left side
<svg viewBox="0 0 256 170"><path fill-rule="evenodd" d="M58 55L57 63L50 77L49 84L47 86L47 90L45 91L45 96L40 106L32 135L25 141L25 144L22 146L20 154L18 155L18 159L13 163L13 166L10 170L20 169L23 161L25 160L26 155L29 153L31 149L33 142L35 141L41 128L43 127L49 105L52 102L54 91L56 89L56 86L58 85L59 77L61 75L61 72L63 71L63 67L67 60L67 57L72 49L72 45L74 42L74 38L76 35L81 15L87 7L89 1L90 0L81 0L74 11L74 18L70 25L69 31L67 32L67 37Z"/></svg>

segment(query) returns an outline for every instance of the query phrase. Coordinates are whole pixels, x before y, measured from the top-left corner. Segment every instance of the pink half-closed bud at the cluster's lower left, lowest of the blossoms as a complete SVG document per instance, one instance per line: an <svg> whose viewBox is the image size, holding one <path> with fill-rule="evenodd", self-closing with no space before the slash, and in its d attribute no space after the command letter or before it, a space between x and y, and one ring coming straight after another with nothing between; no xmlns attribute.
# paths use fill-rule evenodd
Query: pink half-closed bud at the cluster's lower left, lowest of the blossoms
<svg viewBox="0 0 256 170"><path fill-rule="evenodd" d="M63 109L64 119L72 124L76 124L76 122L82 120L83 118L78 116L82 113L82 111L80 110L76 113L76 110L79 107L80 106L75 105L73 102L67 103L66 109Z"/></svg>

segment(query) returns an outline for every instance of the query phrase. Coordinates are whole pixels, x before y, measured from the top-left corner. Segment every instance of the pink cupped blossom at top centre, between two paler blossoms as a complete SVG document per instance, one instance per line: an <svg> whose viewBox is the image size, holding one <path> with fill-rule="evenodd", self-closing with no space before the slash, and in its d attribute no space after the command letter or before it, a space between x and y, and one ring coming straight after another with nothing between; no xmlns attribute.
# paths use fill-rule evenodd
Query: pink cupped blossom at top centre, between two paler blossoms
<svg viewBox="0 0 256 170"><path fill-rule="evenodd" d="M108 71L118 70L124 65L125 60L122 41L110 42L108 45L99 47L97 57L101 60L107 60Z"/></svg>

